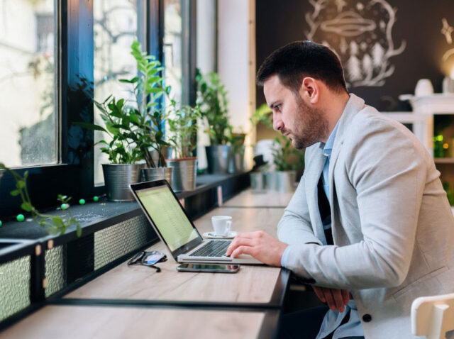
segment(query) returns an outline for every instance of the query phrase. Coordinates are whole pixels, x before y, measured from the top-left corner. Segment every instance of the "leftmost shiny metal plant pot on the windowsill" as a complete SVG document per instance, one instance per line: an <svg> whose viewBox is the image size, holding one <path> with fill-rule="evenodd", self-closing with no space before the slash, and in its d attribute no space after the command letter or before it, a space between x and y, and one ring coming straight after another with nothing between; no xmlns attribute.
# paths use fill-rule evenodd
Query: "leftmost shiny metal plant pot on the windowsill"
<svg viewBox="0 0 454 339"><path fill-rule="evenodd" d="M102 164L106 194L109 201L132 201L130 184L140 182L140 169L144 164Z"/></svg>

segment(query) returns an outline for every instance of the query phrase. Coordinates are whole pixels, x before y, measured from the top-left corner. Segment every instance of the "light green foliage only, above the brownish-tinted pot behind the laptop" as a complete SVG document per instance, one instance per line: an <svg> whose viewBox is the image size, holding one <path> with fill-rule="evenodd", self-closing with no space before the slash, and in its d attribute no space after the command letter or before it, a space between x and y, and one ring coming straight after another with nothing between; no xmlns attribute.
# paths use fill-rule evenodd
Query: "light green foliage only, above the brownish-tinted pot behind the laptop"
<svg viewBox="0 0 454 339"><path fill-rule="evenodd" d="M174 102L172 107L174 109L166 119L172 133L170 143L175 147L178 158L192 157L196 148L197 119L201 117L199 106L176 109Z"/></svg>

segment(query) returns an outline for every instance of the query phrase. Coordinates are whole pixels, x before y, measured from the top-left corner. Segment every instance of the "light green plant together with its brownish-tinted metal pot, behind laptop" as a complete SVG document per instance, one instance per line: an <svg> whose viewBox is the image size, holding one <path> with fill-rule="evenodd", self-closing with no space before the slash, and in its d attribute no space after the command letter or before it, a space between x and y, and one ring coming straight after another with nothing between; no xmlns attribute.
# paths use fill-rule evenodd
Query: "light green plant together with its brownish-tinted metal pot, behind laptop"
<svg viewBox="0 0 454 339"><path fill-rule="evenodd" d="M196 148L197 119L200 118L199 106L182 106L167 116L167 123L172 134L175 157L167 159L167 166L173 167L172 189L175 192L192 191L196 188L197 158L193 157Z"/></svg>

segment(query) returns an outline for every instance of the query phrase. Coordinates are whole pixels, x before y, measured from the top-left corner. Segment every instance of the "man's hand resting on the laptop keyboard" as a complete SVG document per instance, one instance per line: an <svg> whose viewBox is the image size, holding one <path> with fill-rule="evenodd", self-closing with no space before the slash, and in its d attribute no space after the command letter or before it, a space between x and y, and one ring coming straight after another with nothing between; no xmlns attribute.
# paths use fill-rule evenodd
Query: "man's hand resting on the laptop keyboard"
<svg viewBox="0 0 454 339"><path fill-rule="evenodd" d="M286 243L280 242L268 233L258 230L236 235L228 246L226 255L231 255L231 257L238 257L242 254L252 255L267 265L280 266L282 253L287 246Z"/></svg>

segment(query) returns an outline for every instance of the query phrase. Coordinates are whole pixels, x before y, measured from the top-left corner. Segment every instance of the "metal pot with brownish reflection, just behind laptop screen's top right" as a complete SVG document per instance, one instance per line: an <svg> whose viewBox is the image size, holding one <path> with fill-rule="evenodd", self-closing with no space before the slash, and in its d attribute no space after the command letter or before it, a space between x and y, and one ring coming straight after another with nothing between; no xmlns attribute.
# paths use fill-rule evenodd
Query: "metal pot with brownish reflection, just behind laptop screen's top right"
<svg viewBox="0 0 454 339"><path fill-rule="evenodd" d="M175 192L196 189L197 158L169 159L167 166L173 168L172 189Z"/></svg>

